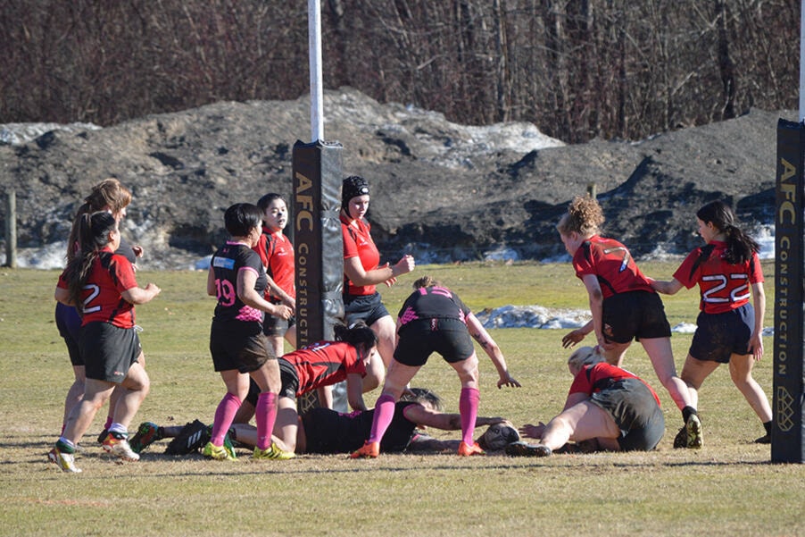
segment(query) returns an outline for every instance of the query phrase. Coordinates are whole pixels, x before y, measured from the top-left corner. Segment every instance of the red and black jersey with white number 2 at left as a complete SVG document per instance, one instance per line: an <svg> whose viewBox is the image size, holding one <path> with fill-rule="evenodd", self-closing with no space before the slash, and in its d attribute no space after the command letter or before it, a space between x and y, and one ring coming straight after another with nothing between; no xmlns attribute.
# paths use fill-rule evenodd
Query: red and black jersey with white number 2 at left
<svg viewBox="0 0 805 537"><path fill-rule="evenodd" d="M64 273L57 284L68 289ZM111 323L119 328L134 326L134 305L121 295L125 290L137 287L134 267L125 256L113 254L103 248L92 262L81 297L84 302L81 325L94 322Z"/></svg>

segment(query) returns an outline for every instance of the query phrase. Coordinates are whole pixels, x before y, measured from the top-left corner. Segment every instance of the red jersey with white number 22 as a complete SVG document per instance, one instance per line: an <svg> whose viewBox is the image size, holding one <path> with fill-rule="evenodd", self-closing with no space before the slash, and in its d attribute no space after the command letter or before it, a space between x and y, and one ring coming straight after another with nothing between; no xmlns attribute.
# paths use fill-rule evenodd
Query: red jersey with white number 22
<svg viewBox="0 0 805 537"><path fill-rule="evenodd" d="M693 250L674 273L676 281L687 289L699 284L699 308L707 314L723 314L747 304L751 285L763 281L756 253L743 264L729 264L724 259L725 250L726 242L713 240Z"/></svg>

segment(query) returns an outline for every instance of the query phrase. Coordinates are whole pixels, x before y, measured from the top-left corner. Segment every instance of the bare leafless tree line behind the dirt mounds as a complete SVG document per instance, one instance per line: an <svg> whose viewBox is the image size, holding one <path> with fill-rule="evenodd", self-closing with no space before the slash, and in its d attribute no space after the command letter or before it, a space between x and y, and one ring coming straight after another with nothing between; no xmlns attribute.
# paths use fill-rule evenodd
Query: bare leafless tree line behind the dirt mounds
<svg viewBox="0 0 805 537"><path fill-rule="evenodd" d="M795 108L798 0L322 0L325 88L569 143ZM307 2L4 0L0 122L309 91ZM326 111L325 111L326 113Z"/></svg>

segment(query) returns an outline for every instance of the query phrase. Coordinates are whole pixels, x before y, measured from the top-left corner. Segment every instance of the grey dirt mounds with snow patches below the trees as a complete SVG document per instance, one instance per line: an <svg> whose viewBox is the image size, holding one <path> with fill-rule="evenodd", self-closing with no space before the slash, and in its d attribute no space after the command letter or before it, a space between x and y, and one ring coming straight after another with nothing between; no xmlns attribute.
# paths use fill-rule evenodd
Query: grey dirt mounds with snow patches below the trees
<svg viewBox="0 0 805 537"><path fill-rule="evenodd" d="M291 197L292 147L309 141L309 107L304 97L220 102L0 145L0 188L16 189L20 246L55 244L61 261L59 241L81 198L114 176L134 194L125 232L146 247L144 266L187 267L224 238L227 206L268 191ZM756 109L640 143L564 145L530 123L468 127L353 88L326 92L325 111L326 138L344 147L344 173L369 179L384 260L411 252L420 262L502 248L519 258L558 256L554 225L590 184L605 232L636 256L698 244L695 210L717 197L747 224L772 222L776 122L797 119Z"/></svg>

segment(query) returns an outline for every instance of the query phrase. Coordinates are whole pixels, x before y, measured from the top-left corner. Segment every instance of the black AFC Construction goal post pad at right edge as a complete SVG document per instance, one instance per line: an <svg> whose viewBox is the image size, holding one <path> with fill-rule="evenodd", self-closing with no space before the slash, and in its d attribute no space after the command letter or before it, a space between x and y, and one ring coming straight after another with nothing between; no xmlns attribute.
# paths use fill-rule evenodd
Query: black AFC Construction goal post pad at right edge
<svg viewBox="0 0 805 537"><path fill-rule="evenodd" d="M775 202L775 338L771 460L805 462L803 399L803 155L802 123L777 122Z"/></svg>

